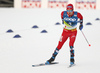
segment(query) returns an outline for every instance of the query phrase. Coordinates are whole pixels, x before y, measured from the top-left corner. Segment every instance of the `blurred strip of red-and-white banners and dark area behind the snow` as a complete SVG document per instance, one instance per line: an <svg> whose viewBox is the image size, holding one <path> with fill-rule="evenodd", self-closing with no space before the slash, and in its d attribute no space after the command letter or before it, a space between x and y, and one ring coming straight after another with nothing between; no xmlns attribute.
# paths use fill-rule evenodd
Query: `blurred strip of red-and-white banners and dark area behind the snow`
<svg viewBox="0 0 100 73"><path fill-rule="evenodd" d="M0 7L66 8L68 3L72 3L75 9L100 9L100 0L0 0Z"/></svg>

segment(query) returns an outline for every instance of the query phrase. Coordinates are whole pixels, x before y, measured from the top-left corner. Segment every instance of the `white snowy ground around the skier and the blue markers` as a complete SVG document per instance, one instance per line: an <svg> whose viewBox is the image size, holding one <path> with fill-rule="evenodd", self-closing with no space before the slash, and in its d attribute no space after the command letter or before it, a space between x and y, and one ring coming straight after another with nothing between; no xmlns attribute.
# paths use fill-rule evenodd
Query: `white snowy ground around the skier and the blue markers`
<svg viewBox="0 0 100 73"><path fill-rule="evenodd" d="M64 9L0 9L0 73L99 73L100 69L100 10L78 10L84 17L83 32L75 42L76 66L69 65L69 39L60 50L57 65L32 68L32 64L44 63L56 48L63 25L60 13ZM91 26L86 23L91 22ZM39 26L32 29L32 26ZM12 29L13 33L6 33ZM48 33L40 33L42 30ZM19 34L21 38L13 38Z"/></svg>

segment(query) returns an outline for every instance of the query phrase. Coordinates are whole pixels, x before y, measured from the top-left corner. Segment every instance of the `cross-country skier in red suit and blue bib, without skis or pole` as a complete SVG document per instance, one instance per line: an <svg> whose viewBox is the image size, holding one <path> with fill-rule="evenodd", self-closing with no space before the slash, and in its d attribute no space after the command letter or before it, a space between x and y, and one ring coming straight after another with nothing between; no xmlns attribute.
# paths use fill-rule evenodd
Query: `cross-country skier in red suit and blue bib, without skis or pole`
<svg viewBox="0 0 100 73"><path fill-rule="evenodd" d="M77 12L74 11L74 7L72 4L68 4L66 11L63 11L61 13L62 23L65 25L61 38L59 40L58 46L56 47L54 53L52 54L52 57L46 61L45 64L50 64L55 60L55 57L57 56L59 50L62 48L65 41L69 38L69 47L70 47L70 65L74 65L74 42L77 35L77 21L80 19L80 26L79 29L83 29L83 16Z"/></svg>

